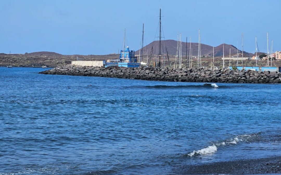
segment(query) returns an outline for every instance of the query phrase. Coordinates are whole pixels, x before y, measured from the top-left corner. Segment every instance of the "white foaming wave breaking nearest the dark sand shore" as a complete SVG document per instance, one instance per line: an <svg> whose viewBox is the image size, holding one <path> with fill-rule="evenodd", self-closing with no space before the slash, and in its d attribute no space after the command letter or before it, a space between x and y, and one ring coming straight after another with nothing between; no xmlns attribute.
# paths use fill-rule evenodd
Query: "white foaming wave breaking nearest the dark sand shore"
<svg viewBox="0 0 281 175"><path fill-rule="evenodd" d="M193 151L191 151L189 153L186 153L182 156L192 157L194 155L195 156L196 155L200 155L200 156L210 155L210 154L216 153L217 149L219 147L234 146L234 145L238 144L239 142L244 142L244 143L258 142L260 140L261 140L260 132L255 133L255 134L243 134L243 135L239 135L239 136L236 136L234 138L231 138L231 139L226 139L226 140L223 140L223 141L217 141L215 143L212 143L211 146L207 146L207 147L199 149L199 150L193 150Z"/></svg>

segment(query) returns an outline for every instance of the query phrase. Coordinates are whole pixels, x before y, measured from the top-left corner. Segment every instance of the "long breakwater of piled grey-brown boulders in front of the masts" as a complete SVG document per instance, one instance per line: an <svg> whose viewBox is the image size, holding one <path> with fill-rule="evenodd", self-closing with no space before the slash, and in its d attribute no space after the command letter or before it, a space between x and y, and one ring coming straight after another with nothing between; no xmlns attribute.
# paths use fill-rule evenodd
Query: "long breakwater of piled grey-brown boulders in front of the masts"
<svg viewBox="0 0 281 175"><path fill-rule="evenodd" d="M100 76L154 81L212 83L281 83L280 72L209 68L161 67L89 67L67 65L40 72L41 74Z"/></svg>

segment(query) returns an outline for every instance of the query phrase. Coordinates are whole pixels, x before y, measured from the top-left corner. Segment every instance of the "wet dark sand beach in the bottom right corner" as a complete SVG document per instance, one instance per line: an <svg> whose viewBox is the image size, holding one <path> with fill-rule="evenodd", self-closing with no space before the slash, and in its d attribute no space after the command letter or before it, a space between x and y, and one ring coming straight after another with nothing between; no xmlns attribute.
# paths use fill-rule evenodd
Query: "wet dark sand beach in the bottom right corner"
<svg viewBox="0 0 281 175"><path fill-rule="evenodd" d="M281 174L281 156L202 165L184 165L174 174Z"/></svg>

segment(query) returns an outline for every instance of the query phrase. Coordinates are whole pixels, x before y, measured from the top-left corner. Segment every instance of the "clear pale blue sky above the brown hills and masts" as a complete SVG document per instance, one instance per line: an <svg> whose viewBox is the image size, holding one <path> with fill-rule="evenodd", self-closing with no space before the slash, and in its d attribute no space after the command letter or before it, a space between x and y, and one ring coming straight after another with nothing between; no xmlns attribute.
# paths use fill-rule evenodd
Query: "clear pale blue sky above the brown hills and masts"
<svg viewBox="0 0 281 175"><path fill-rule="evenodd" d="M161 8L164 39L191 37L255 52L281 50L280 0L0 0L0 53L49 51L65 55L104 55L126 45L138 50L144 23L144 45L158 40Z"/></svg>

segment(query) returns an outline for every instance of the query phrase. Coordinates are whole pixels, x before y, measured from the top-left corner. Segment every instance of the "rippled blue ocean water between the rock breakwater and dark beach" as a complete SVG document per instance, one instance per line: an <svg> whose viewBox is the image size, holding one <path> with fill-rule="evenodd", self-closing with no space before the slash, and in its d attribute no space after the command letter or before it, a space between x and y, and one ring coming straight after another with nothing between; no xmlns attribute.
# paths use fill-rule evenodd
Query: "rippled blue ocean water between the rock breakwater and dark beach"
<svg viewBox="0 0 281 175"><path fill-rule="evenodd" d="M0 67L0 174L174 174L281 155L281 85Z"/></svg>

